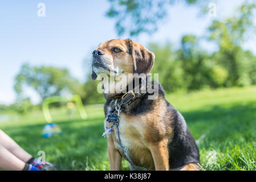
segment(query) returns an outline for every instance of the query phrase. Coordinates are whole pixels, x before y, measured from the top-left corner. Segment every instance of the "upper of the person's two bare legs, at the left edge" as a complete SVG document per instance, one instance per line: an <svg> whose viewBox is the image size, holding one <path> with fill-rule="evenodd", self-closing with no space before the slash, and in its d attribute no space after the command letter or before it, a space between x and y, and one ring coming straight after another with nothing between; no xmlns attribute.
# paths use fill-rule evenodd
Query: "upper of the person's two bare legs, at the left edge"
<svg viewBox="0 0 256 182"><path fill-rule="evenodd" d="M17 158L21 159L25 163L32 158L29 153L23 150L23 148L21 148L2 130L0 130L0 145L5 147L8 151L10 151L13 155L15 155Z"/></svg>

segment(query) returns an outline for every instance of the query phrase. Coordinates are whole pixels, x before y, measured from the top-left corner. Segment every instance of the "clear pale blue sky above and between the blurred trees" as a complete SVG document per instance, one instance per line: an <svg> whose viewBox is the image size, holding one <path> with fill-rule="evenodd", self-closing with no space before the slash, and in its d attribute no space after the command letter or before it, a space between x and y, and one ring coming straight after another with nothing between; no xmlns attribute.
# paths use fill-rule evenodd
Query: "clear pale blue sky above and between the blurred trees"
<svg viewBox="0 0 256 182"><path fill-rule="evenodd" d="M46 16L37 15L38 3L46 5ZM243 0L216 0L217 17L230 15ZM14 77L23 63L53 65L68 68L80 81L90 71L90 56L94 48L104 40L128 38L117 36L115 21L105 16L109 3L97 1L1 1L0 2L0 104L15 101ZM196 6L182 2L168 9L165 22L153 35L142 34L132 38L147 45L149 42L169 40L178 47L184 34L204 36L213 17L198 15ZM255 39L245 44L245 49L256 53ZM205 49L213 51L213 44L204 43ZM26 89L32 102L39 97L32 89Z"/></svg>

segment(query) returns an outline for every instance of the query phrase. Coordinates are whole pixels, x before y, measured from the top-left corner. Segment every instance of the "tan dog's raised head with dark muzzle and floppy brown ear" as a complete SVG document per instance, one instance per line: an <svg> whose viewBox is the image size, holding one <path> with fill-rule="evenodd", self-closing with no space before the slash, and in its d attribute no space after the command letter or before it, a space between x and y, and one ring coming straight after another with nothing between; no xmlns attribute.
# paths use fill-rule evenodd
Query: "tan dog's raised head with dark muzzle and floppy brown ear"
<svg viewBox="0 0 256 182"><path fill-rule="evenodd" d="M149 73L155 55L143 45L130 39L113 39L100 43L92 52L92 80L99 73Z"/></svg>

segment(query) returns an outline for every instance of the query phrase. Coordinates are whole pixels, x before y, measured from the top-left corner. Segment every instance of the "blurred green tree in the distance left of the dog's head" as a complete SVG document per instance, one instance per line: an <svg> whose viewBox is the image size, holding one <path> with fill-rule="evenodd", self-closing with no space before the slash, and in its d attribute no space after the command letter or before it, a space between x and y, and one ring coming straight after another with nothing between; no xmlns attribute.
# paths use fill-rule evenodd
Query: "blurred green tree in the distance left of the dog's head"
<svg viewBox="0 0 256 182"><path fill-rule="evenodd" d="M23 64L15 77L14 89L18 96L23 93L25 85L33 88L44 100L46 97L59 96L64 91L73 93L79 81L70 75L68 69Z"/></svg>

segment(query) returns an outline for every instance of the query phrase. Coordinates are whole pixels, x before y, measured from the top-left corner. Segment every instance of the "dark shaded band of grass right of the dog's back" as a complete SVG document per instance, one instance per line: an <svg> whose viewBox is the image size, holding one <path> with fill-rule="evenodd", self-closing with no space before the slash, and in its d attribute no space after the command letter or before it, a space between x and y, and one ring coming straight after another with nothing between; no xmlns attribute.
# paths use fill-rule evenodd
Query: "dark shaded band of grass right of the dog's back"
<svg viewBox="0 0 256 182"><path fill-rule="evenodd" d="M204 143L206 148L211 142L225 143L227 139L233 143L256 139L255 102L213 105L205 110L183 112L182 115L194 138L205 135L200 143Z"/></svg>

